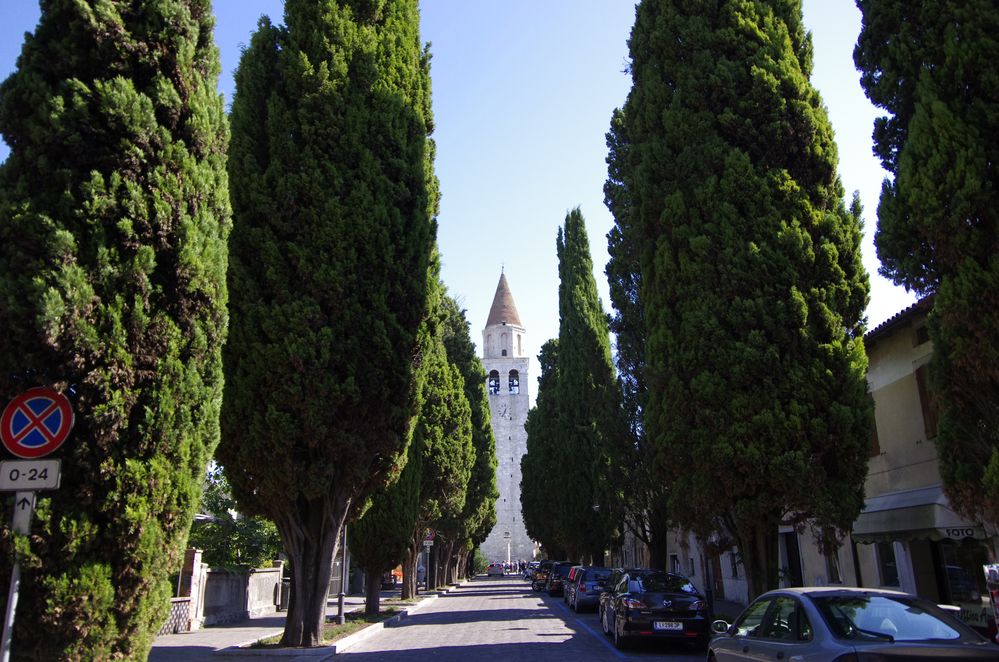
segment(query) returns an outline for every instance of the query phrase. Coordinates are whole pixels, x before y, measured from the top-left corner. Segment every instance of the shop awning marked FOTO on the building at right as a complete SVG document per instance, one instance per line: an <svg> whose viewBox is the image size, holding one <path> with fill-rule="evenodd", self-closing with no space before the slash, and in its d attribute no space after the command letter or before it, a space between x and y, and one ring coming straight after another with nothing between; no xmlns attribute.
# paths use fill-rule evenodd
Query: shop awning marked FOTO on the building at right
<svg viewBox="0 0 999 662"><path fill-rule="evenodd" d="M940 485L869 497L853 523L853 539L861 543L988 537L980 523L954 512Z"/></svg>

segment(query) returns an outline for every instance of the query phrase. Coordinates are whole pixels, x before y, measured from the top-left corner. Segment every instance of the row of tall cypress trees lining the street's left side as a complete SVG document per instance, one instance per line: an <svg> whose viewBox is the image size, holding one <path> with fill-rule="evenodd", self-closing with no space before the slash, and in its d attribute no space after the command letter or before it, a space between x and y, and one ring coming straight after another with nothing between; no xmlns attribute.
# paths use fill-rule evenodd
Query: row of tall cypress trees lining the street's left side
<svg viewBox="0 0 999 662"><path fill-rule="evenodd" d="M291 559L286 645L321 642L340 533L407 458L409 538L489 521L416 0L287 0L228 119L212 30L209 0L46 0L0 87L0 390L76 411L32 535L0 533L17 659L145 659L216 451Z"/></svg>

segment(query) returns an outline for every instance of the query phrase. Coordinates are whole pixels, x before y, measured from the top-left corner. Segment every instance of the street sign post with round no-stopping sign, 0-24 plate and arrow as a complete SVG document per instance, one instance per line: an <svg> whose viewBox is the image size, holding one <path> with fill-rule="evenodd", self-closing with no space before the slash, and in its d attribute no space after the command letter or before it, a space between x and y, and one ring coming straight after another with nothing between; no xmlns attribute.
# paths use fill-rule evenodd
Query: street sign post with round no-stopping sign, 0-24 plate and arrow
<svg viewBox="0 0 999 662"><path fill-rule="evenodd" d="M60 460L42 460L59 448L73 428L73 408L65 395L50 388L31 388L8 403L0 416L0 442L20 460L0 462L0 491L14 492L11 528L22 536L31 531L35 491L58 489L62 477ZM7 591L0 660L10 660L14 635L14 613L21 584L21 562L14 557Z"/></svg>

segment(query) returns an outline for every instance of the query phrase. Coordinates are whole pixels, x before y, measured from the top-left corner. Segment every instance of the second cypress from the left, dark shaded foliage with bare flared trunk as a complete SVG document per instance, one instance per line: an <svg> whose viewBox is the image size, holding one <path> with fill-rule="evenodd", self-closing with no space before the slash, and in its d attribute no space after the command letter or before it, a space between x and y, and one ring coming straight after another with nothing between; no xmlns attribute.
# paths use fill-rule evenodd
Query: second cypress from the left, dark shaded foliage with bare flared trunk
<svg viewBox="0 0 999 662"><path fill-rule="evenodd" d="M236 74L231 336L219 459L277 524L282 642L321 641L341 527L418 409L437 207L416 0L288 0Z"/></svg>

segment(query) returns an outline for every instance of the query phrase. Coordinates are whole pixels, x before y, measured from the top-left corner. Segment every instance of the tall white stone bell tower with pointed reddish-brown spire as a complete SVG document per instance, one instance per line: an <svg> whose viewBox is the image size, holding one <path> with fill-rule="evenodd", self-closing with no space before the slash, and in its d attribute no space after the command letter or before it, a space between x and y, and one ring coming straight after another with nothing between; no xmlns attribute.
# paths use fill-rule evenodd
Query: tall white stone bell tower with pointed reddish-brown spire
<svg viewBox="0 0 999 662"><path fill-rule="evenodd" d="M524 528L520 512L520 458L527 453L528 398L526 330L513 302L513 294L500 272L489 319L482 330L482 365L496 437L496 526L482 543L489 561L530 561L534 542Z"/></svg>

